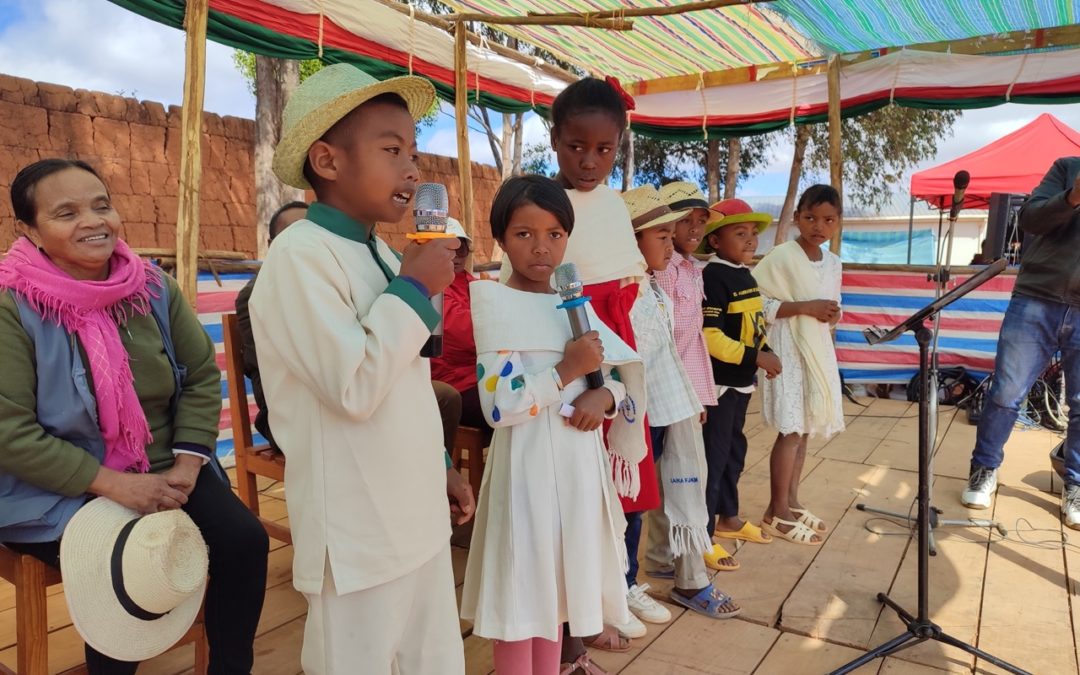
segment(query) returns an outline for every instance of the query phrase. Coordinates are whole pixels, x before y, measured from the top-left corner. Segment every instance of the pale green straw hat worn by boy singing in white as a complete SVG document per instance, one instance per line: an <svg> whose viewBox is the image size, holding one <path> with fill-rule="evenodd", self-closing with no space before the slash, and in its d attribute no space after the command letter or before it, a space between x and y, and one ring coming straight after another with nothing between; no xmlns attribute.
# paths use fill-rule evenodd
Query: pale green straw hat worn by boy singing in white
<svg viewBox="0 0 1080 675"><path fill-rule="evenodd" d="M273 173L286 185L310 190L311 185L303 177L303 162L311 144L362 103L380 94L401 96L417 120L435 102L435 87L423 78L408 76L380 82L349 64L326 66L301 82L282 112Z"/></svg>

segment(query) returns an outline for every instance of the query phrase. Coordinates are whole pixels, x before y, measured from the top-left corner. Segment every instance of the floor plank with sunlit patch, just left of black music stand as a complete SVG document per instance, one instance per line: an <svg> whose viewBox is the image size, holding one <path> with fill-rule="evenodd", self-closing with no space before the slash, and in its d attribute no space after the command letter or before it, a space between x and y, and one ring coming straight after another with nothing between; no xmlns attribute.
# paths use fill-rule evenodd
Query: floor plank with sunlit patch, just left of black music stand
<svg viewBox="0 0 1080 675"><path fill-rule="evenodd" d="M860 501L905 512L913 483L909 473L876 468ZM852 509L835 524L784 604L782 629L858 648L868 645L881 611L876 596L892 585L908 540L868 531L867 517Z"/></svg>

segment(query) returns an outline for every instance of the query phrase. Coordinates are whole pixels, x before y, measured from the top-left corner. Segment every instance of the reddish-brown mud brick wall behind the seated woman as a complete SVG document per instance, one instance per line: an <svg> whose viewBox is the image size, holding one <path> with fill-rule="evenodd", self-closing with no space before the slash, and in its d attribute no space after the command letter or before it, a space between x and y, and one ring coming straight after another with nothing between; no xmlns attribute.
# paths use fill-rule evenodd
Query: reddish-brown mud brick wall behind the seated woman
<svg viewBox="0 0 1080 675"><path fill-rule="evenodd" d="M85 160L102 174L131 246L175 248L179 125L178 106L0 75L0 251L16 237L12 179L21 167L50 157ZM254 137L252 120L203 116L204 249L256 254ZM447 186L450 214L459 217L457 160L422 154L420 176ZM473 164L477 261L491 253L487 214L499 183L495 167ZM411 229L411 216L380 226L396 247L407 243Z"/></svg>

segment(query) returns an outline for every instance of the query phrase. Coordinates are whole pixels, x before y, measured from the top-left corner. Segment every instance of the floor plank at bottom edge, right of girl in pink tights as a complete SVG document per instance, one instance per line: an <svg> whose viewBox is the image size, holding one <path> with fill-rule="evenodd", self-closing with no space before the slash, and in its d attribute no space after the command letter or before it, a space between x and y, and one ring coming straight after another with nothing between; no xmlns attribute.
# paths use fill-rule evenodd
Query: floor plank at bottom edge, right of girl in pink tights
<svg viewBox="0 0 1080 675"><path fill-rule="evenodd" d="M688 611L627 667L617 672L622 675L752 673L778 637L780 632L775 629L750 621L738 618L718 621Z"/></svg>

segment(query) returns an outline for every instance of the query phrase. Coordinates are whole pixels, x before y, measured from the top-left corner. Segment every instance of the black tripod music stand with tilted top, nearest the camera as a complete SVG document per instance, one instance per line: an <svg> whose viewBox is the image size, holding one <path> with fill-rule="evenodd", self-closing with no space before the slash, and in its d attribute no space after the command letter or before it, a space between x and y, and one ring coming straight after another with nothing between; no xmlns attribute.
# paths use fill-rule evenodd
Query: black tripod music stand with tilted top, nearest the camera
<svg viewBox="0 0 1080 675"><path fill-rule="evenodd" d="M877 599L896 612L904 623L905 630L889 642L867 651L858 659L841 665L832 672L832 675L843 675L851 673L870 661L894 654L897 651L914 647L928 639L932 639L945 645L950 645L958 649L986 661L1015 675L1030 675L1011 663L1002 661L994 654L987 653L973 645L969 645L957 637L945 633L940 625L930 620L930 528L933 518L933 509L930 505L930 483L932 480L930 468L931 445L933 436L931 430L931 390L936 389L936 383L931 386L930 378L927 377L931 370L930 345L933 341L933 330L926 325L928 319L936 319L937 313L950 305L953 301L971 293L987 280L997 276L1005 268L1004 259L999 259L978 274L967 280L950 293L943 295L933 302L912 314L899 326L891 330L882 328L867 328L865 332L866 341L870 345L895 340L904 333L912 330L915 340L919 345L919 373L922 375L919 392L919 488L918 488L918 510L916 523L918 525L918 609L916 615L912 615L894 599L885 593L878 593ZM868 509L862 509L868 511Z"/></svg>

